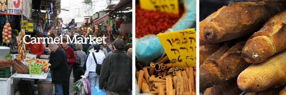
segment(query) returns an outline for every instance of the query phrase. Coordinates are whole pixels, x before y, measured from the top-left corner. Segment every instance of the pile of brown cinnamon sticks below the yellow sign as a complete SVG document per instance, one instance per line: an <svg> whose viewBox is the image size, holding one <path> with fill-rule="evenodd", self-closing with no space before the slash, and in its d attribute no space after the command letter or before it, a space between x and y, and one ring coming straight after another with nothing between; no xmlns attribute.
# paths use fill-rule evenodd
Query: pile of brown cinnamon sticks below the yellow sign
<svg viewBox="0 0 286 95"><path fill-rule="evenodd" d="M135 73L139 93L196 95L196 68L150 63Z"/></svg>

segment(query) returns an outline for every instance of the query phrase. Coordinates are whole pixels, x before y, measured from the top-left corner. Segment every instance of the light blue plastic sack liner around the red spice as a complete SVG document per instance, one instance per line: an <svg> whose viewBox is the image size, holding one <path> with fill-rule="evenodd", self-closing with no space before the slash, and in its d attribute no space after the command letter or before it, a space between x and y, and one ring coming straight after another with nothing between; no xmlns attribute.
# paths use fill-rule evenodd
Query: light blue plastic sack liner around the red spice
<svg viewBox="0 0 286 95"><path fill-rule="evenodd" d="M196 0L184 0L184 7L185 14L165 33L196 28ZM157 35L145 35L142 38L136 38L135 47L136 63L139 62L142 66L148 66L150 62L159 61L165 55L165 50Z"/></svg>

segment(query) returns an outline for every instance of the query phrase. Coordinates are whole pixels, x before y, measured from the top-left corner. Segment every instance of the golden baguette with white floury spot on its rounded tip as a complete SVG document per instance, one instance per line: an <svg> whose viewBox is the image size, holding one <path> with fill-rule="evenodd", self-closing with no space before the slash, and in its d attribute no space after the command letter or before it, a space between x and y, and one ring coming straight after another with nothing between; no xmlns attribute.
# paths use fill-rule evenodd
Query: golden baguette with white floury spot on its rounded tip
<svg viewBox="0 0 286 95"><path fill-rule="evenodd" d="M260 63L286 49L286 11L271 17L245 43L242 56L248 63Z"/></svg>

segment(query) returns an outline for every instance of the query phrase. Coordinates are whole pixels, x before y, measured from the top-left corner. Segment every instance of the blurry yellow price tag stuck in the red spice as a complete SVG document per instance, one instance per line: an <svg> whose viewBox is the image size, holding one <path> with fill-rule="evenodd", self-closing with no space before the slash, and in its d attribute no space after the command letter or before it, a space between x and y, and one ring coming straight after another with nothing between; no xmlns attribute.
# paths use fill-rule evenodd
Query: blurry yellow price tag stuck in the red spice
<svg viewBox="0 0 286 95"><path fill-rule="evenodd" d="M178 0L139 0L141 9L179 14Z"/></svg>

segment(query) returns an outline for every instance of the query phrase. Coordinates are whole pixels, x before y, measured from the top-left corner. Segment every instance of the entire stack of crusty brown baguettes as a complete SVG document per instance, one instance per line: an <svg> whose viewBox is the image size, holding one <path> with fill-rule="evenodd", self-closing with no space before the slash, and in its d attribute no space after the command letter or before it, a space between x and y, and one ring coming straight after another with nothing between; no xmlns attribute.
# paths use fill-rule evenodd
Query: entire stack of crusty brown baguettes
<svg viewBox="0 0 286 95"><path fill-rule="evenodd" d="M200 92L284 95L285 9L286 0L235 2L201 21Z"/></svg>

